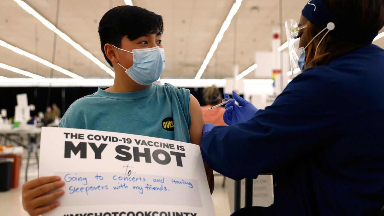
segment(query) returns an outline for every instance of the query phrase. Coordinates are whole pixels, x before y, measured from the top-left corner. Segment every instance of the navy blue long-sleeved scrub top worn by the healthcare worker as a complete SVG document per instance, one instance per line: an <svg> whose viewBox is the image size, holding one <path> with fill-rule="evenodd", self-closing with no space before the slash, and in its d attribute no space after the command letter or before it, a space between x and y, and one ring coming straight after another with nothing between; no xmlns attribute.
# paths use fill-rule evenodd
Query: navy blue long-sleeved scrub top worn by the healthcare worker
<svg viewBox="0 0 384 216"><path fill-rule="evenodd" d="M276 215L376 215L384 204L384 50L305 70L251 120L201 141L214 170L273 173Z"/></svg>

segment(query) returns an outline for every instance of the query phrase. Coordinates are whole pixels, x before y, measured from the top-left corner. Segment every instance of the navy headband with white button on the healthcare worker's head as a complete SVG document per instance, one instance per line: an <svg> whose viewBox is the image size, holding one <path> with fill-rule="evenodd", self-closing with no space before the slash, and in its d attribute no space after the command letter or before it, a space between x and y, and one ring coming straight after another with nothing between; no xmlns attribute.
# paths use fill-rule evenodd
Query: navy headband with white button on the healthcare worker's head
<svg viewBox="0 0 384 216"><path fill-rule="evenodd" d="M361 30L358 26L351 25L347 21L340 19L328 8L323 0L309 0L301 14L321 29L326 28L329 22L334 23L335 28L329 31L329 34L361 45L372 43L379 33Z"/></svg>

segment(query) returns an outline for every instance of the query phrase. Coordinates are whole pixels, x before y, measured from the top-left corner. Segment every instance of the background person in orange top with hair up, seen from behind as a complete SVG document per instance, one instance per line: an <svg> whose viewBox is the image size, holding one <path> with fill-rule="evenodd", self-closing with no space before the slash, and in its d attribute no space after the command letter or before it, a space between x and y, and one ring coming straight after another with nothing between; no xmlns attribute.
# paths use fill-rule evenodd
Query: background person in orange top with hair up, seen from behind
<svg viewBox="0 0 384 216"><path fill-rule="evenodd" d="M222 95L216 86L207 87L203 90L204 100L207 104L206 106L202 106L201 110L203 111L204 123L212 123L214 125L223 125L227 126L223 120L223 114L225 111L224 107L217 107L216 109L207 110L210 107L216 106L220 104L222 101Z"/></svg>

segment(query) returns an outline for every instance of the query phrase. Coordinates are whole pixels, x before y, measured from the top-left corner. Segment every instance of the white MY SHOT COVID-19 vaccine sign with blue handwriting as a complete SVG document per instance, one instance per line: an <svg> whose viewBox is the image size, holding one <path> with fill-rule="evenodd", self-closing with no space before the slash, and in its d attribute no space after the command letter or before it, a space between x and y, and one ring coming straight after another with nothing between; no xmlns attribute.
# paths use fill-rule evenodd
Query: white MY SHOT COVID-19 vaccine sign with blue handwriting
<svg viewBox="0 0 384 216"><path fill-rule="evenodd" d="M98 130L43 127L40 176L65 181L45 216L212 216L200 148Z"/></svg>

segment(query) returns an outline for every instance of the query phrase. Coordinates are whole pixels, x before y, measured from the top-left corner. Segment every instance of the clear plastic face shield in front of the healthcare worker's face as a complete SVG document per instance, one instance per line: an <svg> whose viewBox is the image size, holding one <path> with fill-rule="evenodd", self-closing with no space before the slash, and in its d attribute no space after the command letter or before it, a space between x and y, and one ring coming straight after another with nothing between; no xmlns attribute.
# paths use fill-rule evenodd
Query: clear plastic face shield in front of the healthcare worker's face
<svg viewBox="0 0 384 216"><path fill-rule="evenodd" d="M306 26L300 26L298 27L298 24L295 20L287 20L285 21L285 31L287 36L287 42L288 42L288 53L290 57L290 63L291 63L291 73L292 73L292 79L295 77L296 73L300 73L300 67L298 64L300 51L299 51L299 31Z"/></svg>

